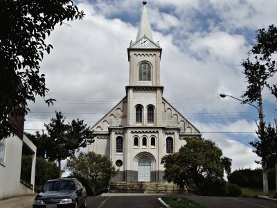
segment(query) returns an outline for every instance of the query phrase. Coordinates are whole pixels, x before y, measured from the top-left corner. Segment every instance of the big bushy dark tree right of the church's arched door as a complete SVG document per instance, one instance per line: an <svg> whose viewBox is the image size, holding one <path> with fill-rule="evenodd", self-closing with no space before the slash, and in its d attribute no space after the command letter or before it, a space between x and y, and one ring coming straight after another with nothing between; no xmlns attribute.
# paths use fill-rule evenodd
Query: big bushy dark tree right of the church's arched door
<svg viewBox="0 0 277 208"><path fill-rule="evenodd" d="M166 168L163 178L181 187L195 189L197 194L218 195L217 191L223 191L222 187L226 186L224 171L231 172L231 159L223 157L222 150L211 140L190 138L186 141L179 152L161 159Z"/></svg>

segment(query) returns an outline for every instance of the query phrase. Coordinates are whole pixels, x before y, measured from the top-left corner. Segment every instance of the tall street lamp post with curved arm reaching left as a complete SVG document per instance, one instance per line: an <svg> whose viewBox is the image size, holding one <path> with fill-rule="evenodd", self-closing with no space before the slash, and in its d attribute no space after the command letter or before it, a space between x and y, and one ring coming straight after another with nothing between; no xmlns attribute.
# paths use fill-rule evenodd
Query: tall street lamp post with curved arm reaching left
<svg viewBox="0 0 277 208"><path fill-rule="evenodd" d="M259 112L260 125L261 125L261 123L264 123L264 114L262 112L262 93L261 93L261 91L259 92L259 99L258 99L259 108L256 105L252 105L251 103L247 103L247 102L242 101L239 98L235 98L234 96L231 96L231 95L220 94L220 96L222 98L231 97L231 98L234 98L235 100L241 101L242 103L245 103L245 104L248 104L248 105L251 105L251 106L255 107ZM262 129L262 133L263 132L264 132L264 130ZM269 193L268 180L267 180L267 162L263 161L263 160L262 160L262 184L263 184L263 193L266 196Z"/></svg>

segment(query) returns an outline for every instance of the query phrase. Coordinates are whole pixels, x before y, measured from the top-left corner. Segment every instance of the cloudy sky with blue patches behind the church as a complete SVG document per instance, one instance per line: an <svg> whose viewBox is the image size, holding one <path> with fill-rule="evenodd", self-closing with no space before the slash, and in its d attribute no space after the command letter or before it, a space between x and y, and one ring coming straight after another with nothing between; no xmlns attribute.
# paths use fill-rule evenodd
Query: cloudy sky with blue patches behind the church
<svg viewBox="0 0 277 208"><path fill-rule="evenodd" d="M35 133L61 111L67 121L94 125L125 96L129 85L127 48L136 39L142 0L83 0L81 21L57 26L47 39L54 49L41 67L55 98L30 103L25 131ZM216 142L232 169L256 168L249 141L256 138L258 111L220 93L240 98L245 83L240 62L247 58L256 30L276 24L276 0L152 0L148 16L159 41L163 97ZM276 78L270 80L277 83ZM263 92L265 121L277 117L274 96ZM257 103L253 103L256 105Z"/></svg>

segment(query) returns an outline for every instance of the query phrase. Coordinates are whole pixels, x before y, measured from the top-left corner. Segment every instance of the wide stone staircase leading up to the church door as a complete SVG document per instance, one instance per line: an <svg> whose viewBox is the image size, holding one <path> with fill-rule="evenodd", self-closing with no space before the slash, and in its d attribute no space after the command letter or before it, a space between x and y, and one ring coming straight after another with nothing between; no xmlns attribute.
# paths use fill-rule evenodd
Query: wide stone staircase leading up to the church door
<svg viewBox="0 0 277 208"><path fill-rule="evenodd" d="M111 182L109 193L184 193L168 182Z"/></svg>

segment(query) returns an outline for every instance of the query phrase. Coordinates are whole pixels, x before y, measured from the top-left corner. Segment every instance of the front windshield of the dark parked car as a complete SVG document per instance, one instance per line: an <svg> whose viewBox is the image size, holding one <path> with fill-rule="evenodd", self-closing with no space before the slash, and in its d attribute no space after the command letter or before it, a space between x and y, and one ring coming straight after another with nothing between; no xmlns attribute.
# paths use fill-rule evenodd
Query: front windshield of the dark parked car
<svg viewBox="0 0 277 208"><path fill-rule="evenodd" d="M75 190L73 180L53 180L44 184L44 191Z"/></svg>

